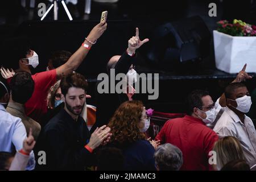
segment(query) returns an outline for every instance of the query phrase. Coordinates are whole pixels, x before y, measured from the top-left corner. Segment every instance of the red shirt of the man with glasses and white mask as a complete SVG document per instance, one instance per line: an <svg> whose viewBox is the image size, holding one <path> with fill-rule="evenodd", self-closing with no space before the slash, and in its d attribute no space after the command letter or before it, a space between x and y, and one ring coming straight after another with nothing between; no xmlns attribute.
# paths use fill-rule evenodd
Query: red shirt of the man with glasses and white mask
<svg viewBox="0 0 256 182"><path fill-rule="evenodd" d="M171 143L183 153L183 166L180 170L209 170L208 159L212 156L214 143L218 135L205 126L198 118L185 115L167 121L155 137L161 143Z"/></svg>

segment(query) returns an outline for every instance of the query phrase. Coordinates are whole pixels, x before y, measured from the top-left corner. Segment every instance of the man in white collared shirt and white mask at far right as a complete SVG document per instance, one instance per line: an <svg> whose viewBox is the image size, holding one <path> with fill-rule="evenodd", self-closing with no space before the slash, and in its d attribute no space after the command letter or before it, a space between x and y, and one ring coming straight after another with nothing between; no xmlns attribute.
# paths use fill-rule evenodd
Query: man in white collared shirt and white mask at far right
<svg viewBox="0 0 256 182"><path fill-rule="evenodd" d="M256 131L245 114L250 110L251 97L246 86L233 82L225 88L226 107L214 126L219 137L233 136L240 140L247 163L256 163Z"/></svg>

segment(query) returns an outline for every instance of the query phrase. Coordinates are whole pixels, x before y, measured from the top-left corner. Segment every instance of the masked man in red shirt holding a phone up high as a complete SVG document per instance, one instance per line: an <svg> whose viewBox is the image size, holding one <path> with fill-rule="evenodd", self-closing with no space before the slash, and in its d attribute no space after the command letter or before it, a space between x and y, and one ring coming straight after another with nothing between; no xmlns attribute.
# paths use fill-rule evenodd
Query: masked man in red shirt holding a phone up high
<svg viewBox="0 0 256 182"><path fill-rule="evenodd" d="M28 117L39 123L43 120L44 115L47 113L46 98L49 88L63 75L68 75L68 73L75 71L79 67L89 52L89 49L106 30L106 26L107 23L105 21L98 23L90 31L82 46L73 53L65 64L56 69L32 75L32 79L35 82L35 89L32 97L25 104L25 111ZM17 54L19 54L19 69L16 71L31 73L32 67L35 68L39 64L38 55L30 48L26 50L23 48L23 53Z"/></svg>

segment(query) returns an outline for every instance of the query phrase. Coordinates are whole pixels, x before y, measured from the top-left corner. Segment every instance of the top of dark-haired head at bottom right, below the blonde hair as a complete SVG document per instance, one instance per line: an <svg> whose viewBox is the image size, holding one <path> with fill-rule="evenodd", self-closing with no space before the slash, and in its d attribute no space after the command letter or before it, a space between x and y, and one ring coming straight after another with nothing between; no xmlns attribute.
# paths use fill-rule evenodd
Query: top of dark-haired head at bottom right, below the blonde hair
<svg viewBox="0 0 256 182"><path fill-rule="evenodd" d="M243 159L232 160L226 163L221 171L250 171L250 166Z"/></svg>

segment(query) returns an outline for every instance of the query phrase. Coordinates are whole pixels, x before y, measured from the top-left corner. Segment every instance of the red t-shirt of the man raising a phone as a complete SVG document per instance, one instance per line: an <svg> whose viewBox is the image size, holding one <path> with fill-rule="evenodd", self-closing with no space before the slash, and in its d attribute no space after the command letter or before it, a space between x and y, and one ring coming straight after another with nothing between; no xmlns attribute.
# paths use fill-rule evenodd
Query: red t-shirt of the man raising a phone
<svg viewBox="0 0 256 182"><path fill-rule="evenodd" d="M56 82L57 73L56 69L52 69L31 77L35 82L35 88L32 97L25 104L25 111L28 117L40 123L47 113L46 98L49 88Z"/></svg>

